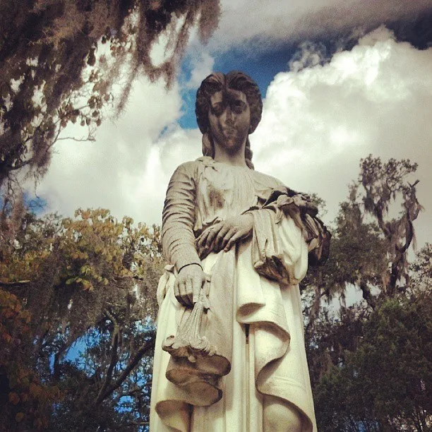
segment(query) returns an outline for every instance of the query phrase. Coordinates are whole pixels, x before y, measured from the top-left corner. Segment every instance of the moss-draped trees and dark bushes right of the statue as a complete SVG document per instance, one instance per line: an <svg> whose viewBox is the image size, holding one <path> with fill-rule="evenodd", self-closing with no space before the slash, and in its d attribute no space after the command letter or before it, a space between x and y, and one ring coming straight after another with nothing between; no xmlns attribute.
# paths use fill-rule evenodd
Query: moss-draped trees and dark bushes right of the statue
<svg viewBox="0 0 432 432"><path fill-rule="evenodd" d="M320 431L431 428L431 245L407 260L421 210L417 182L408 181L415 170L409 160L361 160L335 220L330 258L303 282ZM363 301L347 307L353 287ZM337 313L323 307L322 299L337 297Z"/></svg>

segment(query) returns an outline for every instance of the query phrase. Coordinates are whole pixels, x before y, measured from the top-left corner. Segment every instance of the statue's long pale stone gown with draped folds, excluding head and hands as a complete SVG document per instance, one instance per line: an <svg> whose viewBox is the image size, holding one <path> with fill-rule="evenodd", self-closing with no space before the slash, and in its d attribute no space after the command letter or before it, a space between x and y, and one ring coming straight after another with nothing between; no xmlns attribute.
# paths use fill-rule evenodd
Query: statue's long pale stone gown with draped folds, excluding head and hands
<svg viewBox="0 0 432 432"><path fill-rule="evenodd" d="M298 284L326 232L314 217L300 217L304 201L293 195L271 176L211 157L174 172L163 212L171 265L157 288L150 431L261 432L263 395L294 405L303 431L316 431ZM196 250L203 230L246 212L250 239L227 252ZM216 349L196 363L162 351L191 313L174 296L176 269L191 262L211 277L201 331Z"/></svg>

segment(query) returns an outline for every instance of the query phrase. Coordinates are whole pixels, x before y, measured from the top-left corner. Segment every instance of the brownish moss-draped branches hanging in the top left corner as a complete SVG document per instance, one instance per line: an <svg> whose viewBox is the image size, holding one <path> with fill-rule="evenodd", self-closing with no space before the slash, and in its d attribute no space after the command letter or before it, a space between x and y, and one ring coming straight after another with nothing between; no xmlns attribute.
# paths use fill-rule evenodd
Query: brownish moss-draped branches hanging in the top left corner
<svg viewBox="0 0 432 432"><path fill-rule="evenodd" d="M193 25L205 41L218 18L217 0L2 0L1 192L11 199L19 172L46 172L70 122L93 139L114 85L123 83L120 112L139 73L171 84ZM155 66L150 53L160 36L166 59Z"/></svg>

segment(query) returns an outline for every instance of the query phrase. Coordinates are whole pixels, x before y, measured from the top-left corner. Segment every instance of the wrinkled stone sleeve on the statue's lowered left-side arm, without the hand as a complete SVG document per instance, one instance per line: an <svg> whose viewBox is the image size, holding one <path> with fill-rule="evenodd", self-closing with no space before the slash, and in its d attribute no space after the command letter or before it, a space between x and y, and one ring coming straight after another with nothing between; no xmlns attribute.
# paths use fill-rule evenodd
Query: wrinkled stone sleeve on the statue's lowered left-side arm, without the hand
<svg viewBox="0 0 432 432"><path fill-rule="evenodd" d="M193 224L196 200L196 164L181 164L168 184L162 212L162 249L169 263L179 270L187 264L200 264Z"/></svg>

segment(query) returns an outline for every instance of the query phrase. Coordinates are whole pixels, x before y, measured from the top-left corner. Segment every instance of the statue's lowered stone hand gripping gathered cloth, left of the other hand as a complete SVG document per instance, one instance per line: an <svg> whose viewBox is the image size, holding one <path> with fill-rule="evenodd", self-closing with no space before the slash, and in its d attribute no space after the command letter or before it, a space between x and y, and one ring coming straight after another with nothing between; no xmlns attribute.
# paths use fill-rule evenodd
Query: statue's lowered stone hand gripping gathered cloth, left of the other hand
<svg viewBox="0 0 432 432"><path fill-rule="evenodd" d="M180 270L174 282L176 299L183 306L193 306L198 301L200 290L206 281L207 275L200 265L186 265Z"/></svg>

